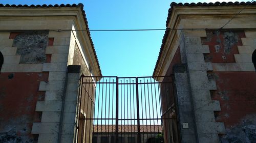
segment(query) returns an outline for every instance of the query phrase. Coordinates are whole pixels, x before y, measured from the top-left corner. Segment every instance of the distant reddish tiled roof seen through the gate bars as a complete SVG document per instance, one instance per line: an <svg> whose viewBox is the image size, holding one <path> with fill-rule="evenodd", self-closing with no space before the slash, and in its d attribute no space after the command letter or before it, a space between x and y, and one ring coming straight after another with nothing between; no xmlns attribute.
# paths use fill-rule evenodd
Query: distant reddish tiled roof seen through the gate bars
<svg viewBox="0 0 256 143"><path fill-rule="evenodd" d="M93 125L93 132L115 132L116 125ZM137 125L119 125L118 132L138 132ZM140 132L162 132L162 125L140 125Z"/></svg>

